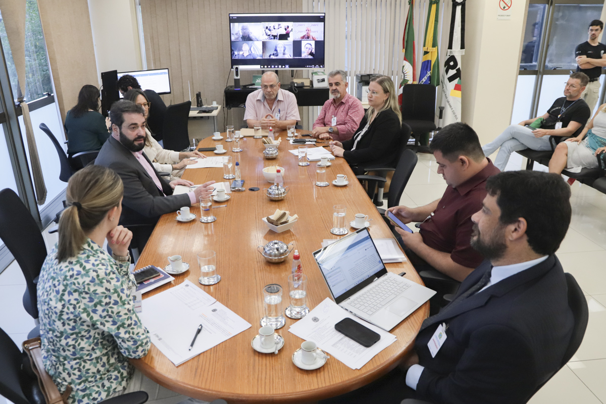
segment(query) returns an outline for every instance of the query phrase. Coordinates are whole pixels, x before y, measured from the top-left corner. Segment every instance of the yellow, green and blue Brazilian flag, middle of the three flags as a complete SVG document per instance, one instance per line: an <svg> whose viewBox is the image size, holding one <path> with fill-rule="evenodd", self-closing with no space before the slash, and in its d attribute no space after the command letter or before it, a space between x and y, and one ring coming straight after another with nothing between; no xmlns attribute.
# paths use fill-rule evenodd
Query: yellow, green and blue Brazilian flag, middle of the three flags
<svg viewBox="0 0 606 404"><path fill-rule="evenodd" d="M425 25L425 40L423 44L423 60L419 84L433 84L438 87L440 67L438 60L438 21L440 0L429 1L427 24Z"/></svg>

